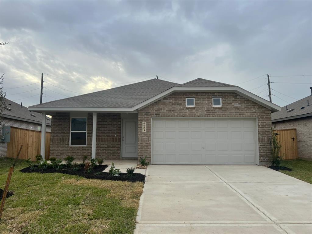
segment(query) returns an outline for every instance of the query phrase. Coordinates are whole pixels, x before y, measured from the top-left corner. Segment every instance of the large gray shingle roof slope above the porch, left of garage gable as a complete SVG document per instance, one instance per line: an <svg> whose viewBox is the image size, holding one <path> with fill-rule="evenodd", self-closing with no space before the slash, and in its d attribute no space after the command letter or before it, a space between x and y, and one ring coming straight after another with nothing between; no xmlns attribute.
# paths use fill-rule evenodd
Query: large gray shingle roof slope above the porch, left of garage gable
<svg viewBox="0 0 312 234"><path fill-rule="evenodd" d="M33 105L31 107L119 107L129 108L180 84L165 80L146 80L94 93Z"/></svg>

